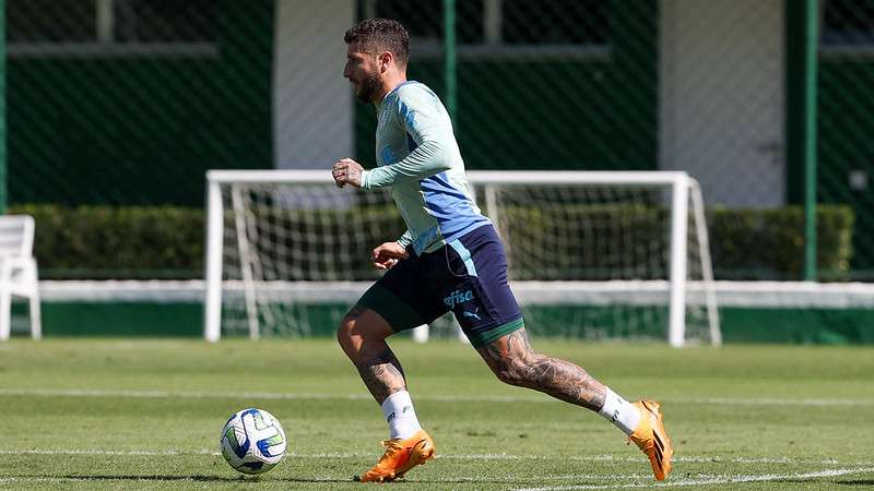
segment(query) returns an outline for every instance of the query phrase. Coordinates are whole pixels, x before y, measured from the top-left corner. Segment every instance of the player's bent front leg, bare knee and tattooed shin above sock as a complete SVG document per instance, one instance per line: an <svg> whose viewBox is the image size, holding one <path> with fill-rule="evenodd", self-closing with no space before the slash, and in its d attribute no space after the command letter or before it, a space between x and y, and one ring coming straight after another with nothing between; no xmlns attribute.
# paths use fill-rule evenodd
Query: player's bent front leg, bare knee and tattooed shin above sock
<svg viewBox="0 0 874 491"><path fill-rule="evenodd" d="M380 405L391 394L406 390L401 362L386 344L392 333L382 316L361 306L353 307L336 330L340 346Z"/></svg>

